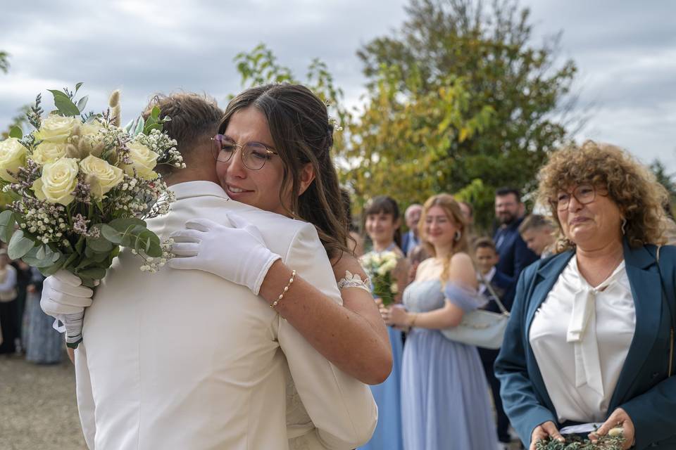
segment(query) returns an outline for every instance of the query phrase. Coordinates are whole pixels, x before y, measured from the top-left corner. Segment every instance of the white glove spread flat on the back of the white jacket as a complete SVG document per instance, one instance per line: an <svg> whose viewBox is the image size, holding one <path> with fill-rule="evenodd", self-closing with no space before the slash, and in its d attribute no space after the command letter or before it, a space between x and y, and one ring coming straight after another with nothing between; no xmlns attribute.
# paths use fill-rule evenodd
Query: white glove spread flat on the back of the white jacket
<svg viewBox="0 0 676 450"><path fill-rule="evenodd" d="M268 250L261 231L237 214L227 214L232 227L209 219L192 219L186 229L171 233L169 259L173 269L197 269L210 272L244 285L258 295L265 275L273 262L280 259Z"/></svg>

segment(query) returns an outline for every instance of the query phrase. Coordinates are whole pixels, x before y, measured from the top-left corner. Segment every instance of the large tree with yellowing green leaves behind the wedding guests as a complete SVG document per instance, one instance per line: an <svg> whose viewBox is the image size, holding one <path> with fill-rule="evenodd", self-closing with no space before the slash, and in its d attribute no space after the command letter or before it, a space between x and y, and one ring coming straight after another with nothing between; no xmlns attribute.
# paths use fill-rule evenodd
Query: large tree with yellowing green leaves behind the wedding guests
<svg viewBox="0 0 676 450"><path fill-rule="evenodd" d="M575 64L556 65L558 38L532 44L516 0L411 0L391 36L358 51L368 80L364 113L343 150L358 197L403 205L445 191L492 222L493 191L530 191L546 155L564 143Z"/></svg>

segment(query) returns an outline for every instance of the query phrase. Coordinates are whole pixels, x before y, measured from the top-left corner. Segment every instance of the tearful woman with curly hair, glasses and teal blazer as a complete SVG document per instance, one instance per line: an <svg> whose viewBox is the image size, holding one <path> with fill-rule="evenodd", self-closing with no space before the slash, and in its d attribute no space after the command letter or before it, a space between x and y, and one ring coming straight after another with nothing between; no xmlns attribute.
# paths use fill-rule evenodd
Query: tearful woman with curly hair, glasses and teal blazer
<svg viewBox="0 0 676 450"><path fill-rule="evenodd" d="M558 254L522 272L496 361L522 441L559 429L621 426L628 449L676 448L676 248L663 244L665 191L614 146L553 153L539 197L559 226Z"/></svg>

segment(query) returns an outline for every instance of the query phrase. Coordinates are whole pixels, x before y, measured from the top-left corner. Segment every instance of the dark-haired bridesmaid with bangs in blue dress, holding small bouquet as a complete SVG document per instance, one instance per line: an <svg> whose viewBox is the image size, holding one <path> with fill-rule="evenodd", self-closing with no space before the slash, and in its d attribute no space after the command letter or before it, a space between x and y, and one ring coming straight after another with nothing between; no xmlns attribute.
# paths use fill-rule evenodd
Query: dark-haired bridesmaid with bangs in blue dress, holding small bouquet
<svg viewBox="0 0 676 450"><path fill-rule="evenodd" d="M401 219L399 207L394 199L385 195L373 198L364 210L364 229L373 241L373 250L369 255L383 252L395 252L399 262L392 272L399 287L399 294L394 297L395 302L401 302L401 293L406 287L408 263L399 248L401 245ZM371 392L378 405L378 425L373 437L362 450L403 450L401 442L401 354L403 340L401 330L392 326L387 327L389 341L392 345L392 373L380 385L371 386ZM410 447L413 448L413 447Z"/></svg>

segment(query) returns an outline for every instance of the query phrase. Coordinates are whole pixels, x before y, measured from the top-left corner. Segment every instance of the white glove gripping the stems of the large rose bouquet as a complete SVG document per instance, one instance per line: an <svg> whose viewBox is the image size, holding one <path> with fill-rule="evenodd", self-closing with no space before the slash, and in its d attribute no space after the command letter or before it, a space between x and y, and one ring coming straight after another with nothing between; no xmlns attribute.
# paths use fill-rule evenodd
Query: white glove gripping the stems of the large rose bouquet
<svg viewBox="0 0 676 450"><path fill-rule="evenodd" d="M80 278L63 269L44 280L40 307L56 319L55 330L65 331L68 347L75 348L82 342L84 308L92 304L93 295L93 290L82 286ZM63 326L58 326L59 321Z"/></svg>

